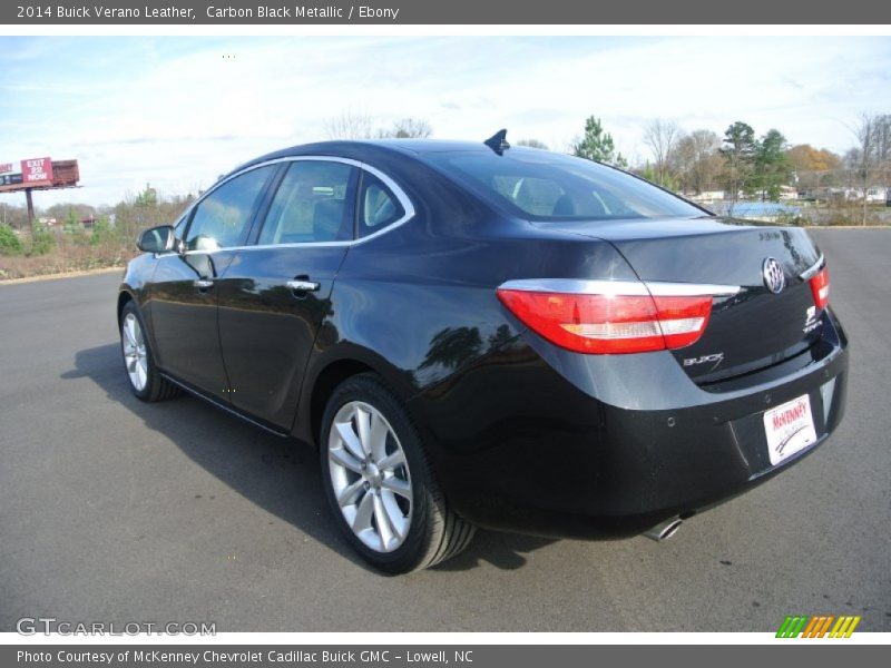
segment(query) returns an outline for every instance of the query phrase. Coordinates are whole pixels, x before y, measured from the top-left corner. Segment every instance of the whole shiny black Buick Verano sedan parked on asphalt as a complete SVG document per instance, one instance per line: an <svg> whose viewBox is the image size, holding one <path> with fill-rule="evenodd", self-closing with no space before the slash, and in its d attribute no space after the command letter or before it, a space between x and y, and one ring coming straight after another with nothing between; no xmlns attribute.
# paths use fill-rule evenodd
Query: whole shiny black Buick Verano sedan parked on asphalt
<svg viewBox="0 0 891 668"><path fill-rule="evenodd" d="M266 155L139 248L117 303L135 394L314 444L335 521L384 571L476 527L667 538L844 409L803 229L503 132Z"/></svg>

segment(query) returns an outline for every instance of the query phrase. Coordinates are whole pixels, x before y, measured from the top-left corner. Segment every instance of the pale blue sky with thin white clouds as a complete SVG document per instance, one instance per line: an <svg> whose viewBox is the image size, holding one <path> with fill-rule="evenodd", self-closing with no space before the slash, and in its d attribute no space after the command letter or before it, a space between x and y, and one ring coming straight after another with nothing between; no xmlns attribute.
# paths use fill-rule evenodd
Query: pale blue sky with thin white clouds
<svg viewBox="0 0 891 668"><path fill-rule="evenodd" d="M329 138L347 111L560 150L596 115L633 163L655 118L719 135L743 120L843 153L861 111L891 112L888 37L0 37L0 164L80 165L81 188L38 206L195 193Z"/></svg>

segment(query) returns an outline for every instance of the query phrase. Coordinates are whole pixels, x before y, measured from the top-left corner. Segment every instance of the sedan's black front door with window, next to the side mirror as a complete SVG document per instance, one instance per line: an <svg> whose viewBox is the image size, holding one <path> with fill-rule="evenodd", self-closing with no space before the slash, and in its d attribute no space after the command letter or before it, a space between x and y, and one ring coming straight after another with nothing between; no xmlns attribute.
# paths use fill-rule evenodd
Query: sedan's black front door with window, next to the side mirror
<svg viewBox="0 0 891 668"><path fill-rule="evenodd" d="M163 255L153 277L149 312L160 366L197 389L226 399L228 381L217 332L217 281L251 229L276 167L261 167L212 190L192 210L184 252Z"/></svg>

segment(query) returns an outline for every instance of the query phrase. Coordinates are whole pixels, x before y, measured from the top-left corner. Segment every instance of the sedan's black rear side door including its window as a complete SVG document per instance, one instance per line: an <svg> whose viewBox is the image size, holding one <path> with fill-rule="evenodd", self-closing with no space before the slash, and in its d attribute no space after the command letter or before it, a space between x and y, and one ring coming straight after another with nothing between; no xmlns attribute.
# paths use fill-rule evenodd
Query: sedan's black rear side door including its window
<svg viewBox="0 0 891 668"><path fill-rule="evenodd" d="M219 342L232 403L290 429L334 277L353 239L359 168L335 158L292 161L256 243L218 283Z"/></svg>

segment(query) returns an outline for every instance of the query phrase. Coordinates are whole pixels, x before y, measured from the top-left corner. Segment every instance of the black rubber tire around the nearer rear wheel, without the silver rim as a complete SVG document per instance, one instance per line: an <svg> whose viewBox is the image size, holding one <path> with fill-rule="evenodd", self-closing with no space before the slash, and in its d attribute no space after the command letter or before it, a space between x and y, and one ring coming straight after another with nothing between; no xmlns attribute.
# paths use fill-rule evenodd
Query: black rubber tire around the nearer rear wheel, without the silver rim
<svg viewBox="0 0 891 668"><path fill-rule="evenodd" d="M337 412L351 402L369 404L384 416L408 464L412 503L408 518L409 529L402 543L392 551L371 549L360 540L341 511L334 491L334 474L329 461L331 430ZM336 441L336 436L334 440ZM454 557L470 544L476 528L449 507L424 453L419 430L379 376L371 373L355 375L334 390L322 419L319 443L322 483L335 521L353 548L374 568L388 573L421 570ZM368 485L365 489L369 489Z"/></svg>

